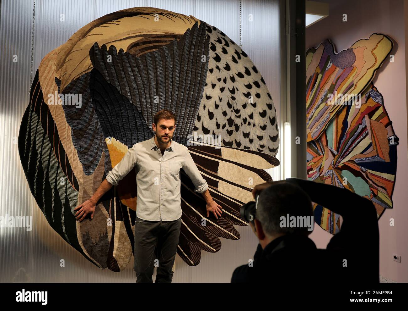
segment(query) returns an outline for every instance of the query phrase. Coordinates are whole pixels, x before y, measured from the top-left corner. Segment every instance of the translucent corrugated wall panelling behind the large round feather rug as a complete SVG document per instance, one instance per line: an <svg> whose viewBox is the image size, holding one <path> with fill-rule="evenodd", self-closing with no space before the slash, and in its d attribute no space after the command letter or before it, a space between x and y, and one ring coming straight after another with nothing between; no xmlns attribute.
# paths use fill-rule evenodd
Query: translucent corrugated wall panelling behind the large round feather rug
<svg viewBox="0 0 408 311"><path fill-rule="evenodd" d="M134 282L133 262L121 273L100 270L49 226L27 184L17 136L29 100L33 2L1 2L0 38L0 216L32 217L32 230L0 228L0 282ZM193 15L239 43L239 1L52 1L37 0L33 76L41 59L78 29L107 13L148 6ZM63 14L63 15L62 15ZM248 20L252 14L253 20ZM62 18L64 21L62 21ZM279 1L242 1L242 45L261 71L280 114ZM13 62L13 56L17 62ZM282 127L281 127L282 129ZM278 158L279 154L278 154ZM279 179L279 169L271 170ZM249 227L237 227L239 241L222 239L218 253L202 252L196 267L176 257L173 282L229 282L233 269L248 262L257 240ZM64 260L65 266L60 262Z"/></svg>

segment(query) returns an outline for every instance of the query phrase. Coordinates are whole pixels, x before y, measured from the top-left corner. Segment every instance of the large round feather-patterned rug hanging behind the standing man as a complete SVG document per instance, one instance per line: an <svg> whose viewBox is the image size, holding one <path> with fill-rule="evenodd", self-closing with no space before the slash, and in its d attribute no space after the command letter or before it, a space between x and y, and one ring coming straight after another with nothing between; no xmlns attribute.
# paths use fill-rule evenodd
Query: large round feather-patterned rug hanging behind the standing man
<svg viewBox="0 0 408 311"><path fill-rule="evenodd" d="M18 136L29 187L51 227L100 268L122 271L134 246L136 179L106 192L92 220L75 220L133 144L150 139L153 115L178 116L173 139L186 145L223 208L205 201L181 172L182 228L177 253L194 266L219 237L239 239L239 208L279 165L276 111L262 75L222 31L171 11L137 7L79 29L41 61ZM220 148L202 139L220 137ZM196 139L188 144L189 135ZM196 135L196 136L195 136ZM206 226L202 226L206 219ZM44 241L45 243L47 241Z"/></svg>

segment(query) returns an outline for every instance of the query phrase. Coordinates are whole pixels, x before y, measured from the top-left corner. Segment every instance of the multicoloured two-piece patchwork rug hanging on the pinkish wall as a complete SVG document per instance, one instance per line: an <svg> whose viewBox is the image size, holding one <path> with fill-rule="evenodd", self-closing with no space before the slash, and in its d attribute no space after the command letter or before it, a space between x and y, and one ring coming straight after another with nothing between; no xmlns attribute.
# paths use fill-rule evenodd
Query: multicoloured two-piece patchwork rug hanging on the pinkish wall
<svg viewBox="0 0 408 311"><path fill-rule="evenodd" d="M371 81L391 49L373 34L339 54L329 40L306 52L308 179L370 199L378 217L392 208L398 138ZM318 204L314 212L317 224L339 232L338 214Z"/></svg>

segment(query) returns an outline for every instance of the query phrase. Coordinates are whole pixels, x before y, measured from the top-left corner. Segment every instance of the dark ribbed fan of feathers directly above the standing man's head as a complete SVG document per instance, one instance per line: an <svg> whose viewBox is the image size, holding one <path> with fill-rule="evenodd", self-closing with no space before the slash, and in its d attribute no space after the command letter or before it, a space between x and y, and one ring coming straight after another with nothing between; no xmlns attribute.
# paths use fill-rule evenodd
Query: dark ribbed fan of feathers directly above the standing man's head
<svg viewBox="0 0 408 311"><path fill-rule="evenodd" d="M120 94L129 99L150 127L154 114L173 111L179 119L173 139L186 145L200 107L208 62L206 24L196 22L179 41L153 52L132 56L111 45L95 43L89 52L92 65Z"/></svg>

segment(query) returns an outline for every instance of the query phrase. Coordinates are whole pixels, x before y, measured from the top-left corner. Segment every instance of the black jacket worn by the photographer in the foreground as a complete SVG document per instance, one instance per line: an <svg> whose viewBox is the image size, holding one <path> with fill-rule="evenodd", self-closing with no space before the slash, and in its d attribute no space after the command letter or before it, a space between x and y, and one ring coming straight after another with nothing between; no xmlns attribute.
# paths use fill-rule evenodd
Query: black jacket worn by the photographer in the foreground
<svg viewBox="0 0 408 311"><path fill-rule="evenodd" d="M252 266L233 272L231 282L338 284L379 282L379 230L373 203L347 189L290 178L310 199L343 217L340 232L326 249L304 235L278 237L265 249L258 244Z"/></svg>

